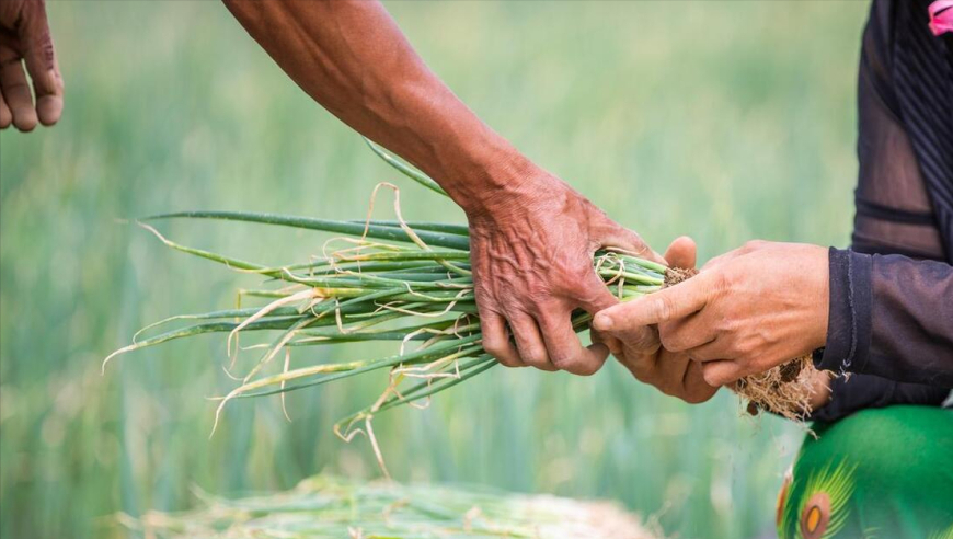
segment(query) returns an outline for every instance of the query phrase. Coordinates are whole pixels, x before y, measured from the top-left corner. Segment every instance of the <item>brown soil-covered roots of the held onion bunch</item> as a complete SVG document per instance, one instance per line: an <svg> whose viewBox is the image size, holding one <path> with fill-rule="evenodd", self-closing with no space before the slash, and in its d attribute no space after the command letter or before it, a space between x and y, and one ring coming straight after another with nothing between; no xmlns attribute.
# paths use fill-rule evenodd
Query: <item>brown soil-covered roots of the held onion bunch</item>
<svg viewBox="0 0 953 539"><path fill-rule="evenodd" d="M665 272L665 285L675 286L698 275L698 270L670 267ZM805 355L757 375L742 378L730 389L747 401L747 411L757 415L767 410L791 421L804 421L811 414L814 392L814 362Z"/></svg>

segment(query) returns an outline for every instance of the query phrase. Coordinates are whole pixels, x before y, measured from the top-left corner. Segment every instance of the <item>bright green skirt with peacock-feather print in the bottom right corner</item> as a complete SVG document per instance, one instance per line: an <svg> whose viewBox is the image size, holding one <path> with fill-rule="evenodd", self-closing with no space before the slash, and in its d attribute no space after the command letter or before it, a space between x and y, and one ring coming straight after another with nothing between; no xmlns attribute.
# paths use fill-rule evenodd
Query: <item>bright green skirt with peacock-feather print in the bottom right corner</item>
<svg viewBox="0 0 953 539"><path fill-rule="evenodd" d="M814 425L778 498L781 539L953 539L953 410Z"/></svg>

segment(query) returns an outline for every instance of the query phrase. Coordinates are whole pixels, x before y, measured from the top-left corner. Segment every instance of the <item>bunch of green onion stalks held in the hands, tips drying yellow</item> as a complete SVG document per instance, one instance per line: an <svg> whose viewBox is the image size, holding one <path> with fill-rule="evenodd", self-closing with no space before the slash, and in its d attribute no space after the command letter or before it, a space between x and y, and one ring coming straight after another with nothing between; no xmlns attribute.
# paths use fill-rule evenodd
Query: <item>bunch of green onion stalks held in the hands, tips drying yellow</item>
<svg viewBox="0 0 953 539"><path fill-rule="evenodd" d="M433 180L382 148L368 144L400 172L444 193ZM400 214L399 191L391 184L381 184L378 188L381 186L391 187L395 193L397 220L336 221L234 211L188 211L143 219L140 225L172 249L266 278L266 287L241 293L243 297L260 298L265 305L162 320L141 330L133 344L114 352L106 362L118 354L176 339L223 333L228 335L229 363L233 368L237 355L242 351L238 345L239 334L274 334L271 344L253 347L262 349L261 356L239 377L238 387L220 399L216 425L225 405L236 398L284 395L288 391L388 369L390 383L380 399L335 426L335 432L345 439L359 432L367 434L382 465L370 424L376 413L428 399L486 371L496 365L496 360L481 344L468 228L463 225L404 221ZM171 218L248 221L332 232L341 237L325 243L325 252L310 261L274 266L185 246L146 223ZM596 253L594 267L606 286L621 299L659 289L666 271L661 264L619 251ZM573 328L577 332L584 331L589 320L589 314L577 312L572 319ZM190 324L141 339L145 333L182 322ZM343 363L317 362L289 368L291 351L361 341L391 341L393 354L355 357ZM282 363L282 369L273 366ZM360 422L365 424L364 429L353 429Z"/></svg>

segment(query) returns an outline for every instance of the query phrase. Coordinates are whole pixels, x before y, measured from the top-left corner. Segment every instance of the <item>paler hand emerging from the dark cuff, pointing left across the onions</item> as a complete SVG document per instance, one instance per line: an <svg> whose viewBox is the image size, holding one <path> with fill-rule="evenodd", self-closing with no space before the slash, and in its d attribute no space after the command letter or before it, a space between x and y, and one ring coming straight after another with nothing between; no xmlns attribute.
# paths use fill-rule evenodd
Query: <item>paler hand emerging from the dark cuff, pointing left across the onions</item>
<svg viewBox="0 0 953 539"><path fill-rule="evenodd" d="M827 309L827 249L755 241L685 283L607 309L594 326L658 324L666 349L702 363L704 381L723 386L823 346Z"/></svg>

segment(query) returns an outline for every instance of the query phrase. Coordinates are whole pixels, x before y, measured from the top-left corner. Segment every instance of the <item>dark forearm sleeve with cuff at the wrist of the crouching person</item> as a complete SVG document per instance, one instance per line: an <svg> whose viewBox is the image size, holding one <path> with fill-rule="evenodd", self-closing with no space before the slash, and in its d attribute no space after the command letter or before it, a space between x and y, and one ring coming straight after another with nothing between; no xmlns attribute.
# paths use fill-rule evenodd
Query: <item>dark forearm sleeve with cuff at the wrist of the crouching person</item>
<svg viewBox="0 0 953 539"><path fill-rule="evenodd" d="M816 366L953 388L953 266L831 249L827 344Z"/></svg>

